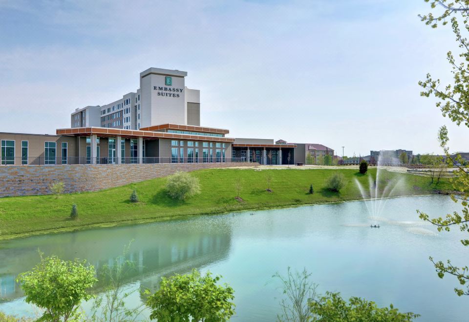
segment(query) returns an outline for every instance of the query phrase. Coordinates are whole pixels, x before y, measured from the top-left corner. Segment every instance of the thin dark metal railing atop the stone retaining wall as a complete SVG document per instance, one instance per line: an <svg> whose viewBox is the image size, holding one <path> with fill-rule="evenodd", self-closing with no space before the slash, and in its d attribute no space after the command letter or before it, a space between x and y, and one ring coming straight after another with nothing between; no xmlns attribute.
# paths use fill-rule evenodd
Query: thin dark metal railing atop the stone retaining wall
<svg viewBox="0 0 469 322"><path fill-rule="evenodd" d="M233 163L248 161L245 158L171 158L171 157L121 157L120 162L117 157L2 157L0 158L1 165L60 165L60 164L163 164L163 163Z"/></svg>

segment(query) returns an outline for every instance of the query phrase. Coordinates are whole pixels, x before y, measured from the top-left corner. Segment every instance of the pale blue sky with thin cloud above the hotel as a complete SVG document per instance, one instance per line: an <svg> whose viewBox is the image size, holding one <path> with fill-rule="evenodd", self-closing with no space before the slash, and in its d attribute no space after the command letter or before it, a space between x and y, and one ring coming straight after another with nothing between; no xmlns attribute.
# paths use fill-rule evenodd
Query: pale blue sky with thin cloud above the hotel
<svg viewBox="0 0 469 322"><path fill-rule="evenodd" d="M424 0L0 0L0 132L55 134L70 113L135 92L149 67L188 72L201 125L321 143L342 155L469 151L469 129L420 97L451 81L449 28Z"/></svg>

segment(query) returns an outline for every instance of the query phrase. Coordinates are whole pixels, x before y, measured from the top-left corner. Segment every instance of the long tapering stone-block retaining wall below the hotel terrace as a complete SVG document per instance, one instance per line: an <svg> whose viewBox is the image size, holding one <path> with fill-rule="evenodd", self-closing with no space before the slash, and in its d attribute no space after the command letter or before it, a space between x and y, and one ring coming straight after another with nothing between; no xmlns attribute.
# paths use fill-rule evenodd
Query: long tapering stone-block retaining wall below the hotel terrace
<svg viewBox="0 0 469 322"><path fill-rule="evenodd" d="M86 164L0 166L0 197L50 194L49 184L63 181L65 192L97 191L165 177L176 171L253 166L258 163Z"/></svg>

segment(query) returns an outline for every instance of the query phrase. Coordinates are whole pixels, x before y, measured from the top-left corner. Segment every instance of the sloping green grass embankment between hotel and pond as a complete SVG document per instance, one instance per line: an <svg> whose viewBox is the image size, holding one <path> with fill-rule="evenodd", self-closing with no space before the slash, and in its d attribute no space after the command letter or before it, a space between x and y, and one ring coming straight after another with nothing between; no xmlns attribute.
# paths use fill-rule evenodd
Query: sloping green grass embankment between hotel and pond
<svg viewBox="0 0 469 322"><path fill-rule="evenodd" d="M347 184L341 192L324 188L325 181L341 172ZM98 192L82 192L55 196L9 197L0 199L0 240L41 232L67 231L89 226L155 221L163 218L227 211L278 207L297 204L362 199L355 179L368 191L368 177L376 169L361 175L355 169L208 169L192 172L199 178L201 194L187 201L171 200L165 190L166 178L158 178ZM266 191L271 177L272 192ZM235 181L241 178L240 197L235 200ZM392 196L430 194L435 189L449 190L447 179L429 184L427 177L382 171L378 187L403 179ZM313 184L314 194L309 194ZM131 203L129 196L137 190L140 202ZM70 220L71 206L78 206L78 219Z"/></svg>

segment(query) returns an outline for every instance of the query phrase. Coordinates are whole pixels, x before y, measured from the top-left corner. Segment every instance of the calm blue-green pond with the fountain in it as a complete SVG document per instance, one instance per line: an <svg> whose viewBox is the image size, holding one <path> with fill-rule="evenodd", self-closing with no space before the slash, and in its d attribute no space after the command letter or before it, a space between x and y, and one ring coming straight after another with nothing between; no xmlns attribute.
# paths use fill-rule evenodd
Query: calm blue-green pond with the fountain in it
<svg viewBox="0 0 469 322"><path fill-rule="evenodd" d="M162 276L192 268L223 276L235 289L235 321L274 321L279 311L276 272L306 268L319 292L339 291L393 303L419 321L464 321L467 298L453 292L456 280L437 277L428 256L467 264L461 233L438 233L419 220L416 209L442 216L460 205L448 196L388 199L380 218L366 202L353 201L240 212L35 236L0 242L0 310L34 315L16 276L38 261L38 249L62 259L86 259L95 267L112 263L133 240L129 259L138 264L128 278L141 290L158 287ZM381 224L370 228L370 223ZM129 305L141 301L136 294ZM85 305L85 309L89 304Z"/></svg>

